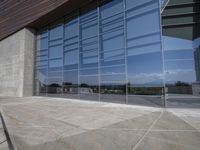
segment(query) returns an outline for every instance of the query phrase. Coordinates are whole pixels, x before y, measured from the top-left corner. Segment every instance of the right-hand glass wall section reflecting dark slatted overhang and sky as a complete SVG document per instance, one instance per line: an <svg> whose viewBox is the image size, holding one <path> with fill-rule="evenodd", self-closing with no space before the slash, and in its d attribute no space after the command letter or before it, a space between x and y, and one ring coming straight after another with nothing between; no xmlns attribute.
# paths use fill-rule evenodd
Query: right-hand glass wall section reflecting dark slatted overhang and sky
<svg viewBox="0 0 200 150"><path fill-rule="evenodd" d="M170 0L162 13L168 107L200 107L200 4Z"/></svg>

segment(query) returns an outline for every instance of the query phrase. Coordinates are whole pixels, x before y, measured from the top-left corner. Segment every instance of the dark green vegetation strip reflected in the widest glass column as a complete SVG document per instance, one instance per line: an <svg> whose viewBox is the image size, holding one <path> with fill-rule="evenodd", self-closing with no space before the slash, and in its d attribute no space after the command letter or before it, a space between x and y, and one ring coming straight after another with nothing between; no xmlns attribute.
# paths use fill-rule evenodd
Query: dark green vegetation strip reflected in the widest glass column
<svg viewBox="0 0 200 150"><path fill-rule="evenodd" d="M136 95L161 95L162 88L161 87L129 87L129 94Z"/></svg>

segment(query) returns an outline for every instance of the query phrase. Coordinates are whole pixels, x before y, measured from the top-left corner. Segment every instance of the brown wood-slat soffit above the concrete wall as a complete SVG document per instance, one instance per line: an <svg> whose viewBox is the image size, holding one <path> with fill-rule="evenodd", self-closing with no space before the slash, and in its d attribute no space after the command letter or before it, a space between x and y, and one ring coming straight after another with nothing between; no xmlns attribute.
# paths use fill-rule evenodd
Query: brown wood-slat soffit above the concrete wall
<svg viewBox="0 0 200 150"><path fill-rule="evenodd" d="M0 41L24 27L40 28L92 0L0 0Z"/></svg>

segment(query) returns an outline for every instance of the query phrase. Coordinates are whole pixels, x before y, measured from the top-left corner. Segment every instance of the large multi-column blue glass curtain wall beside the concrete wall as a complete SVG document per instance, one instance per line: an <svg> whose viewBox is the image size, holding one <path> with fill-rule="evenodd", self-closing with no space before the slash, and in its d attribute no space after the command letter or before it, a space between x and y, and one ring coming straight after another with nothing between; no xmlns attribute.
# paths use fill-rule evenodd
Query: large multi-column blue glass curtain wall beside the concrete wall
<svg viewBox="0 0 200 150"><path fill-rule="evenodd" d="M164 105L159 0L95 0L38 33L36 95Z"/></svg>

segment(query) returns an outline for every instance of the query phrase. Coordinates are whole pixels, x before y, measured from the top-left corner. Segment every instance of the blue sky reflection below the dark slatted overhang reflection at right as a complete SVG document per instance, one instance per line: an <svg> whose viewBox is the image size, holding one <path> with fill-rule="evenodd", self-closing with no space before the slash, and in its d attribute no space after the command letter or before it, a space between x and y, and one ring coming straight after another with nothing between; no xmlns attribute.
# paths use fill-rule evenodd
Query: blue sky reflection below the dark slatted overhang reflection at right
<svg viewBox="0 0 200 150"><path fill-rule="evenodd" d="M193 41L163 36L166 83L196 80Z"/></svg>

